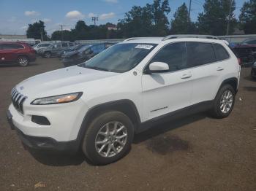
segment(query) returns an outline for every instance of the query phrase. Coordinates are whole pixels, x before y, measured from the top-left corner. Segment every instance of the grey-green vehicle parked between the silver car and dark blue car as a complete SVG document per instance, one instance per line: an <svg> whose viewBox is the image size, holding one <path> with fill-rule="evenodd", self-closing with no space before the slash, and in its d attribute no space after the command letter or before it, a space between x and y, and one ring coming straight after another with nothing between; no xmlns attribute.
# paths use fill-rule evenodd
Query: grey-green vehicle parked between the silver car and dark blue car
<svg viewBox="0 0 256 191"><path fill-rule="evenodd" d="M56 56L59 51L67 50L69 47L74 46L74 42L59 42L51 44L49 47L42 48L38 51L38 54L43 58L51 58Z"/></svg>

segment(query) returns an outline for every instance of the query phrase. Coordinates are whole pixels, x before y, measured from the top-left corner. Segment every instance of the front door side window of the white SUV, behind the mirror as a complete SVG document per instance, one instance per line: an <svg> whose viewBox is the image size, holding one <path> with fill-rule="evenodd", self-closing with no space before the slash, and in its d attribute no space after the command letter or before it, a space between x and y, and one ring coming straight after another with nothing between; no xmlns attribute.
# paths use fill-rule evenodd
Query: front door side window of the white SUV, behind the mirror
<svg viewBox="0 0 256 191"><path fill-rule="evenodd" d="M151 63L153 62L167 63L170 71L187 68L186 44L184 42L168 44L157 52L151 60Z"/></svg>

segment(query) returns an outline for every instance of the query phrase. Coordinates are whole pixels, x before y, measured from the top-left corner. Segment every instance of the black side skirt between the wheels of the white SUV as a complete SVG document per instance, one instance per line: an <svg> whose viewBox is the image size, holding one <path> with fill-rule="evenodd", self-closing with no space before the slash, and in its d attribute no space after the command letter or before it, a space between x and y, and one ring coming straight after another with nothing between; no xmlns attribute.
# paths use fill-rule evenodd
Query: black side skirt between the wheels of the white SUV
<svg viewBox="0 0 256 191"><path fill-rule="evenodd" d="M194 104L192 106L187 106L183 109L178 109L175 112L170 112L168 114L155 117L151 120L141 122L140 126L137 128L135 133L141 133L144 130L147 130L148 128L152 128L153 126L164 123L164 122L176 120L178 118L186 117L191 114L207 111L212 108L213 104L214 104L214 101L203 101L201 103Z"/></svg>

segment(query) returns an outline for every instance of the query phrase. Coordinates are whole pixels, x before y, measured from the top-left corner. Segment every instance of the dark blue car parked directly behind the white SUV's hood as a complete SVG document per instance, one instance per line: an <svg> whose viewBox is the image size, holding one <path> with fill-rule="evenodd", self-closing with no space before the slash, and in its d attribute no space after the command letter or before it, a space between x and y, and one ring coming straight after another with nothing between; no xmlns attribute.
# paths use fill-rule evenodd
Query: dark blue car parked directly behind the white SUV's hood
<svg viewBox="0 0 256 191"><path fill-rule="evenodd" d="M84 47L80 47L80 49L77 51L68 52L62 59L62 63L65 67L83 63L94 57L94 55L99 54L99 52L102 52L103 50L112 46L113 44L115 43L106 42L89 46L85 45Z"/></svg>

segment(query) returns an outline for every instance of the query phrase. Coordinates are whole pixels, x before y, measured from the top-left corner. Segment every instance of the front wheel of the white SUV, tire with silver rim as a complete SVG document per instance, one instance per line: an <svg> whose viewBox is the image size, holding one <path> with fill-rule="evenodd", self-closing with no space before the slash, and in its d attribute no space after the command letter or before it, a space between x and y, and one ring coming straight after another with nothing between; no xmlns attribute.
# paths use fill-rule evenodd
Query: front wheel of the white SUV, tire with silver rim
<svg viewBox="0 0 256 191"><path fill-rule="evenodd" d="M118 133L114 133L118 130ZM133 134L134 127L126 114L116 111L105 112L96 117L86 130L82 143L83 153L95 165L113 163L127 155Z"/></svg>

